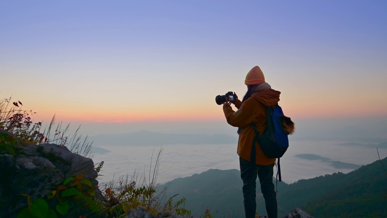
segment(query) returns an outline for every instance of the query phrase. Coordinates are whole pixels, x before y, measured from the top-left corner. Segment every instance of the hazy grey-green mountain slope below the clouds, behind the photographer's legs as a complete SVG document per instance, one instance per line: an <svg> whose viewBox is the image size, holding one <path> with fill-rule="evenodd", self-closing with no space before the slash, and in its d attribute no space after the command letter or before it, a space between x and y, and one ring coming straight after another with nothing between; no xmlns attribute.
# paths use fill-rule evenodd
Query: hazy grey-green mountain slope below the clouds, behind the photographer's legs
<svg viewBox="0 0 387 218"><path fill-rule="evenodd" d="M185 208L192 210L194 215L200 215L205 208L212 208L213 213L219 211L218 215L234 212L233 218L244 217L243 182L239 170L211 169L200 174L177 178L160 187L168 184L166 196L180 194L177 199L184 196L187 199ZM257 184L259 187L258 179ZM286 186L286 183L279 182L278 190L283 190ZM264 200L259 189L257 189L257 203L258 213L265 214ZM288 209L286 213L291 212L292 209Z"/></svg>

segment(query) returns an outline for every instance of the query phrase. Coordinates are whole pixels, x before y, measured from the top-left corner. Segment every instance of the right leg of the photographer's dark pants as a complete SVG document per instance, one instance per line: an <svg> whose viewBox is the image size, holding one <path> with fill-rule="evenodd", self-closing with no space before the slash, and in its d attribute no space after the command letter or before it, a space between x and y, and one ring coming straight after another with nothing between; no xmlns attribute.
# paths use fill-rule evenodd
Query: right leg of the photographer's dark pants
<svg viewBox="0 0 387 218"><path fill-rule="evenodd" d="M258 178L261 185L261 192L265 199L265 206L268 218L278 217L277 193L273 183L274 164L269 166L258 165Z"/></svg>

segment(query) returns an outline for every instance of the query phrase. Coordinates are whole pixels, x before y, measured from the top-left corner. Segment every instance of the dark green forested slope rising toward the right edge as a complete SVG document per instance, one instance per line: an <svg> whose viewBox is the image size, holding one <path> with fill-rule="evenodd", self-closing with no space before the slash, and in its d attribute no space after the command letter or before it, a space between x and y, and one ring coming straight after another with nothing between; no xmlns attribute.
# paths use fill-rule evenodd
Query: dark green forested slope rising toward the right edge
<svg viewBox="0 0 387 218"><path fill-rule="evenodd" d="M387 166L387 158L383 159L383 164ZM384 185L383 185L384 184ZM290 184L283 192L278 193L279 202L286 205L286 208L301 207L315 217L323 217L325 213L320 213L317 208L331 210L332 205L322 204L324 200L330 200L330 196L340 196L339 199L355 201L360 197L359 204L370 204L368 197L372 196L377 199L378 207L385 204L381 201L381 192L383 186L387 188L387 175L385 174L380 161L362 166L350 173L334 173L332 175L319 176L308 180L299 180ZM373 198L372 198L373 199ZM341 208L332 209L338 214L337 217L343 217L352 208L352 204L346 203ZM371 204L373 204L372 202ZM380 203L380 204L379 204ZM307 204L307 206L303 206ZM316 207L316 208L314 208ZM385 208L385 206L383 207ZM382 210L383 208L378 208ZM372 214L372 207L365 210L366 213ZM364 217L354 216L351 217ZM380 215L380 214L379 214ZM329 216L326 216L329 217Z"/></svg>

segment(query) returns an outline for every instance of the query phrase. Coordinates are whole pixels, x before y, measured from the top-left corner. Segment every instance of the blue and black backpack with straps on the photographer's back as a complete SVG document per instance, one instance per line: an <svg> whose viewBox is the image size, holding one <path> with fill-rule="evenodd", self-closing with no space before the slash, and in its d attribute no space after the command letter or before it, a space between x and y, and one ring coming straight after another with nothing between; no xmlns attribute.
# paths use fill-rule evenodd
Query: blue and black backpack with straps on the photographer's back
<svg viewBox="0 0 387 218"><path fill-rule="evenodd" d="M255 142L258 142L262 152L265 156L269 158L278 158L278 166L277 166L277 176L279 178L279 182L281 182L281 168L279 164L279 158L282 157L289 147L289 139L288 135L291 134L291 131L286 131L286 126L289 128L290 125L294 125L290 118L284 116L282 108L276 104L272 107L267 108L267 128L260 136L257 126L255 123L252 123L255 131L255 137L253 140L252 152L251 152L251 161L252 165L255 164ZM294 127L294 126L293 126ZM292 128L293 128L292 127Z"/></svg>

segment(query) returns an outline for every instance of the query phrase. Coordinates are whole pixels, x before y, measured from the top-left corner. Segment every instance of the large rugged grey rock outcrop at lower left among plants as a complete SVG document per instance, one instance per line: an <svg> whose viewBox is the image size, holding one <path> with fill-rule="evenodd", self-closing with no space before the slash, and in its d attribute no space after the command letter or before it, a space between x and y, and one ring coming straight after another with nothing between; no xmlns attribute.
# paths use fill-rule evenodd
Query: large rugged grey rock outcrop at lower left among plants
<svg viewBox="0 0 387 218"><path fill-rule="evenodd" d="M85 179L90 180L95 188L98 185L98 173L94 170L94 163L90 158L74 154L67 147L56 144L19 147L24 151L16 156L0 154L0 218L16 217L22 208L28 206L27 197L21 194L31 196L31 201L37 198L47 199L47 194L68 177L84 174ZM105 200L101 191L97 188L96 190L95 197ZM47 201L49 205L50 202L54 204L50 205L50 208L55 208L55 200ZM87 208L80 207L76 202L70 204L70 208L67 214L69 217L91 214ZM74 214L70 214L72 212Z"/></svg>

